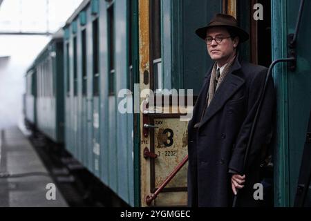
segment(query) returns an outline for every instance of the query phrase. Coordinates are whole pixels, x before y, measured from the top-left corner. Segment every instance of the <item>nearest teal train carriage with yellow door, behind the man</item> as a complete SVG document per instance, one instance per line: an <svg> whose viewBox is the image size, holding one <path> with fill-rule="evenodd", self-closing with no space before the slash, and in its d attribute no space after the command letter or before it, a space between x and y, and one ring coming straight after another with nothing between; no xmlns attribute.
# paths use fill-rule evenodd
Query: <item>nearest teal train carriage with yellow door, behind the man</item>
<svg viewBox="0 0 311 221"><path fill-rule="evenodd" d="M66 149L131 206L185 206L187 163L160 191L187 155L187 122L179 120L180 106L171 102L162 113L147 108L122 114L118 107L124 97L118 93L127 88L134 104L148 104L153 96L171 97L164 93L165 88L193 89L195 101L212 63L204 41L194 30L214 14L225 12L236 17L251 35L240 48L240 55L247 61L268 67L272 61L295 52L291 55L296 55L296 68L282 63L273 69L277 94L274 194L272 201L264 203L299 205L305 191L305 205L310 206L310 191L305 186L310 185L310 144L306 137L311 131L311 55L305 42L311 31L311 5L301 2L302 10L293 0L83 1L64 26ZM255 3L261 5L254 7ZM256 20L254 14L260 6L263 20ZM288 35L295 32L299 18L299 35L290 48ZM140 89L135 91L135 86ZM133 99L135 92L144 89L158 93L139 97L139 101ZM179 112L164 112L172 108L179 108Z"/></svg>

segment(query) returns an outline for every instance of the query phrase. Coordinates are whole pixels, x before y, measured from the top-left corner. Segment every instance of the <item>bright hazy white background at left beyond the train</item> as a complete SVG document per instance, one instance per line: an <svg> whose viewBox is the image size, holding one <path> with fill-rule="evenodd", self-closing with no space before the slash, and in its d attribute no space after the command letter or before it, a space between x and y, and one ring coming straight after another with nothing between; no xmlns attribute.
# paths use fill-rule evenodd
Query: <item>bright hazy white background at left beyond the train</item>
<svg viewBox="0 0 311 221"><path fill-rule="evenodd" d="M0 130L23 127L23 75L81 2L0 0Z"/></svg>

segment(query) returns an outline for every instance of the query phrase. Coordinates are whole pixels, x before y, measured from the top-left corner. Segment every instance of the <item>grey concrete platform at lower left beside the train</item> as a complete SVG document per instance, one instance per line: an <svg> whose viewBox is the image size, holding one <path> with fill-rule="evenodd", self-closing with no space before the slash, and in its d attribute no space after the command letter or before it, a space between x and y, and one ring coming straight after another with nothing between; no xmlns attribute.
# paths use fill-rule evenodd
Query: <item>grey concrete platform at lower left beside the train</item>
<svg viewBox="0 0 311 221"><path fill-rule="evenodd" d="M0 206L68 206L34 148L19 128L4 129L0 137ZM34 172L37 175L29 176L29 173ZM1 178L3 173L21 176Z"/></svg>

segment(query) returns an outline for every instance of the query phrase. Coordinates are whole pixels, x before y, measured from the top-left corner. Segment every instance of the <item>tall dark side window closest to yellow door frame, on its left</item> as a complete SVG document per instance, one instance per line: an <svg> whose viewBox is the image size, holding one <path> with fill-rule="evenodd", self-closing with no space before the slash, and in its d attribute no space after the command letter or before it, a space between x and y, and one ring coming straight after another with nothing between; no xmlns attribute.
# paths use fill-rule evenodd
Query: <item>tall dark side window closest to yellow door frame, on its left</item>
<svg viewBox="0 0 311 221"><path fill-rule="evenodd" d="M115 18L113 2L108 8L109 95L115 95Z"/></svg>

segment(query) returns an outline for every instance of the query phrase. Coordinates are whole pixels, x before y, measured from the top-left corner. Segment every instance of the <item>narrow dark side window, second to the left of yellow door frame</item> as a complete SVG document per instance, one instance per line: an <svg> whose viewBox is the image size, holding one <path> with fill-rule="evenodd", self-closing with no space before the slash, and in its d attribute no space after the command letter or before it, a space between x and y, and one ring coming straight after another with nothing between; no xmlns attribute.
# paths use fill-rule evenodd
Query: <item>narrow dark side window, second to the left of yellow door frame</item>
<svg viewBox="0 0 311 221"><path fill-rule="evenodd" d="M99 66L99 32L98 19L93 21L93 96L99 95L100 66Z"/></svg>

